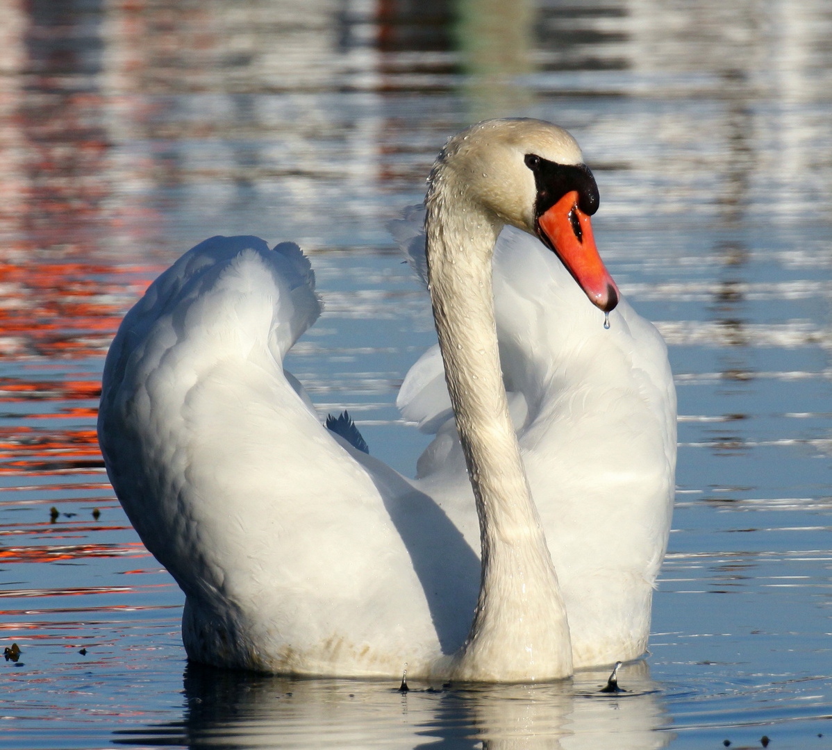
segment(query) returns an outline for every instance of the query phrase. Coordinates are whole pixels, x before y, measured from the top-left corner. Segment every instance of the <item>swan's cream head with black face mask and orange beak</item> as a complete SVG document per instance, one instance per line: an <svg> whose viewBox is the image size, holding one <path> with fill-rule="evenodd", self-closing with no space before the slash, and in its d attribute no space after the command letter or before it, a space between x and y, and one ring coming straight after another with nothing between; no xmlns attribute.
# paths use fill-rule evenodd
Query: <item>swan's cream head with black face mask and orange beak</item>
<svg viewBox="0 0 832 750"><path fill-rule="evenodd" d="M542 240L561 259L590 301L605 313L619 292L592 237L598 188L577 141L551 122L486 120L453 136L429 181L428 205L439 183L493 217Z"/></svg>

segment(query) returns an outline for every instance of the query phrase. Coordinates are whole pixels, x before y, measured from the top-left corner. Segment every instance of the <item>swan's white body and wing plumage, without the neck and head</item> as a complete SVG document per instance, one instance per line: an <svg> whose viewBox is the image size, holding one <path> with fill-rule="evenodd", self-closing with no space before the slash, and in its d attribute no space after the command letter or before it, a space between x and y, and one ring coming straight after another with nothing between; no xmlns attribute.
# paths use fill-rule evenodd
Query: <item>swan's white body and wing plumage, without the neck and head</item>
<svg viewBox="0 0 832 750"><path fill-rule="evenodd" d="M408 225L398 234L418 248ZM555 254L512 227L494 253L493 295L511 419L566 607L560 639L568 651L571 638L576 669L636 658L671 518L665 345L625 300L606 330ZM538 656L515 669L477 655L460 668L482 641L469 634L480 529L442 358L428 350L399 394L404 416L436 433L409 481L326 430L284 371L319 309L296 245L215 237L156 279L107 357L107 471L186 593L189 657L294 674L392 677L405 663L414 676L568 674L563 659L549 669ZM500 460L483 473L500 476ZM518 648L537 649L522 606L501 612Z"/></svg>

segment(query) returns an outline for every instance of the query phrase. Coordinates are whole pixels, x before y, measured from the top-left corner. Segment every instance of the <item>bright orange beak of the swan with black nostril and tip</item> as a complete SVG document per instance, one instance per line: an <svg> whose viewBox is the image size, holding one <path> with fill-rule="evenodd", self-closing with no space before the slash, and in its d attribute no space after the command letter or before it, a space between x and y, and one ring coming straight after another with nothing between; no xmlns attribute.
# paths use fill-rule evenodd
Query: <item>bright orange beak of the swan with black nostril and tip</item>
<svg viewBox="0 0 832 750"><path fill-rule="evenodd" d="M538 217L537 234L554 250L590 302L609 313L618 304L618 287L598 254L589 215L577 202L577 190L564 195Z"/></svg>

